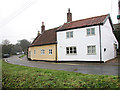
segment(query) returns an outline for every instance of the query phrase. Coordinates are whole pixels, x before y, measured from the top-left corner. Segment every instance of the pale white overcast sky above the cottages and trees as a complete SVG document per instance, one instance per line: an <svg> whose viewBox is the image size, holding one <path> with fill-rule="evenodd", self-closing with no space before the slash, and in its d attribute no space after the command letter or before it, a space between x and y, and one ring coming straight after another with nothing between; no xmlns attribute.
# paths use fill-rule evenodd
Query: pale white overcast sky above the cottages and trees
<svg viewBox="0 0 120 90"><path fill-rule="evenodd" d="M32 41L41 30L58 27L67 21L70 8L73 21L110 13L118 21L118 0L0 0L0 43L27 39Z"/></svg>

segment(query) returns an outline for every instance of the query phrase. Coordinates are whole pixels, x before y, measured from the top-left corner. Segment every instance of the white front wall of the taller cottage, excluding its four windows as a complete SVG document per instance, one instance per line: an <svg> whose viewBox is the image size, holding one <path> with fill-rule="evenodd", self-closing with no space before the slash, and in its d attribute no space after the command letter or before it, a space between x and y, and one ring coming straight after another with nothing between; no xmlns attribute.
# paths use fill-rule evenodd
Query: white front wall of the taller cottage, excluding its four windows
<svg viewBox="0 0 120 90"><path fill-rule="evenodd" d="M95 27L95 35L87 36L86 29ZM57 32L58 61L100 61L99 27L72 29ZM73 31L73 38L66 39L66 32ZM96 45L96 55L87 55L87 46ZM66 55L66 47L76 46L76 55Z"/></svg>

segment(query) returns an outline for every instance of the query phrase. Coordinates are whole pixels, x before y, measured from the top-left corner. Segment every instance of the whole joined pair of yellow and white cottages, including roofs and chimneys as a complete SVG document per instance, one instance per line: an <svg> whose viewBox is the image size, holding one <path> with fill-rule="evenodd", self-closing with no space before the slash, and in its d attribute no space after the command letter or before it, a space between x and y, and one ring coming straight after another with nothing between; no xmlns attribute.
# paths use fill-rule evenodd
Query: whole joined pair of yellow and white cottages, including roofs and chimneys
<svg viewBox="0 0 120 90"><path fill-rule="evenodd" d="M28 58L47 61L100 61L116 57L118 41L113 34L110 15L72 21L70 9L67 23L38 33L28 48Z"/></svg>

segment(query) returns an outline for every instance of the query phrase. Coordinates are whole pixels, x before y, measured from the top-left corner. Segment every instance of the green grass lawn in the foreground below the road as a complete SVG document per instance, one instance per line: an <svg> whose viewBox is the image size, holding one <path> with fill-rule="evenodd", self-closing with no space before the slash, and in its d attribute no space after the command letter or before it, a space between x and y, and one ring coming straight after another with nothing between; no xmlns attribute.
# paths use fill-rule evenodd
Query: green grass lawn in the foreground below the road
<svg viewBox="0 0 120 90"><path fill-rule="evenodd" d="M2 62L3 88L118 88L117 76L39 69Z"/></svg>

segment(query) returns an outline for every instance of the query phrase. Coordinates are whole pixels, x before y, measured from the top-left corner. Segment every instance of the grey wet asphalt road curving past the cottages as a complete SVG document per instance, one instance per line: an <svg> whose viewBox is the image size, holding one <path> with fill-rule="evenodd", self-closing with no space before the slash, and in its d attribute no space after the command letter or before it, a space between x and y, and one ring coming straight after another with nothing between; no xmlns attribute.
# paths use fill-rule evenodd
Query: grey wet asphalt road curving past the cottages
<svg viewBox="0 0 120 90"><path fill-rule="evenodd" d="M44 61L29 61L26 57L18 58L18 56L12 56L7 58L6 61L11 64L54 69L54 70L64 70L79 72L84 74L97 74L97 75L118 75L118 64L108 64L108 63L87 63L87 62L77 62L77 63L55 63L55 62L44 62Z"/></svg>

